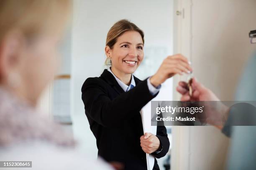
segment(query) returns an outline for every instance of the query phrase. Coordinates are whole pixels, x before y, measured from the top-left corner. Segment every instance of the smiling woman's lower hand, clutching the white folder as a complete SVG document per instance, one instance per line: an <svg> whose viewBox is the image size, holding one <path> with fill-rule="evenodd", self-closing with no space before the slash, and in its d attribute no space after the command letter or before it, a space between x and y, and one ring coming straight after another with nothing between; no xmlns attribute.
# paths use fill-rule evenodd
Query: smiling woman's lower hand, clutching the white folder
<svg viewBox="0 0 256 170"><path fill-rule="evenodd" d="M145 133L141 136L141 148L145 153L154 153L160 146L160 140L152 133Z"/></svg>

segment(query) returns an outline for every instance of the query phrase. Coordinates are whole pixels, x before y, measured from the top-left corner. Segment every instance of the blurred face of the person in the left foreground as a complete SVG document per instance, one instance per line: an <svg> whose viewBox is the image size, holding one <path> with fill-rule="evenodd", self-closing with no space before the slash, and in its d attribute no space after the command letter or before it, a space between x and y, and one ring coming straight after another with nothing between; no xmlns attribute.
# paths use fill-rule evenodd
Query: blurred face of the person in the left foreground
<svg viewBox="0 0 256 170"><path fill-rule="evenodd" d="M24 84L29 87L27 93L31 100L38 100L44 88L54 79L60 62L57 50L60 37L56 34L41 35L25 49L20 70Z"/></svg>

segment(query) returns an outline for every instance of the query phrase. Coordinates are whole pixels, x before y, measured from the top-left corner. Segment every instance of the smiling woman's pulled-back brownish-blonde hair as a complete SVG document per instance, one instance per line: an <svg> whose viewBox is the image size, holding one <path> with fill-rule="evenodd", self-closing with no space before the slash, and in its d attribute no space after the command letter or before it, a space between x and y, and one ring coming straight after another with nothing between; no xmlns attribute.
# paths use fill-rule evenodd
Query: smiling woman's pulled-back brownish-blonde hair
<svg viewBox="0 0 256 170"><path fill-rule="evenodd" d="M135 25L134 23L131 23L130 21L123 19L115 23L108 31L106 46L112 49L118 37L120 37L124 32L127 31L137 31L138 33L140 33L144 44L144 32L140 28L138 28L137 25ZM107 59L105 60L105 65L111 65L110 58L107 57Z"/></svg>

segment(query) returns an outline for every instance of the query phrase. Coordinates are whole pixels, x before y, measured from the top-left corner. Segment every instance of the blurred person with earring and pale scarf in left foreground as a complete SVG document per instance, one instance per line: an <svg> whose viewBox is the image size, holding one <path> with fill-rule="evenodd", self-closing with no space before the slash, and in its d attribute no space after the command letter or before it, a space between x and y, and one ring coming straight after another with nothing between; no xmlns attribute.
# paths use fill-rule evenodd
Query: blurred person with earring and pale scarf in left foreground
<svg viewBox="0 0 256 170"><path fill-rule="evenodd" d="M71 135L36 111L58 68L71 5L0 0L0 161L32 161L28 169L112 169L81 155Z"/></svg>

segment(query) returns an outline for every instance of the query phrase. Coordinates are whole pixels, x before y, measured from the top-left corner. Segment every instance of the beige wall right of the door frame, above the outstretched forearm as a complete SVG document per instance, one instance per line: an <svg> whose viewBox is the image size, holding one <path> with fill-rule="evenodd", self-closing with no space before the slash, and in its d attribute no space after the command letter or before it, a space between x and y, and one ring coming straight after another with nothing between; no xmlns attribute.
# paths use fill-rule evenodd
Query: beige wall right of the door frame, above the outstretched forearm
<svg viewBox="0 0 256 170"><path fill-rule="evenodd" d="M255 16L255 0L193 0L195 75L221 100L233 100L243 66L256 50L248 37Z"/></svg>

